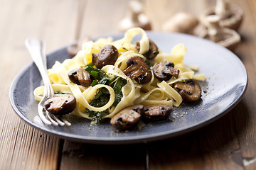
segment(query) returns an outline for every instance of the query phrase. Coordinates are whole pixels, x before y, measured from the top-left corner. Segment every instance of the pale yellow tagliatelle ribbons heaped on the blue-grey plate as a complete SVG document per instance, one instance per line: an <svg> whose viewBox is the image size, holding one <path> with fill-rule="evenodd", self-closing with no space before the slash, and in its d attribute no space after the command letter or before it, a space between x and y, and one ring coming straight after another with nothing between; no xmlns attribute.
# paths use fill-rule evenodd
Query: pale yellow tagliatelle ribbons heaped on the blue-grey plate
<svg viewBox="0 0 256 170"><path fill-rule="evenodd" d="M137 45L132 42L135 35L142 35L139 40L139 49ZM68 72L78 67L85 67L87 64L92 63L93 53L100 52L105 45L113 45L117 48L118 58L113 65L105 65L101 68L102 72L112 79L110 84L94 84L92 86L81 86L74 84L68 77ZM151 69L151 79L149 83L139 84L134 79L124 74L124 69L127 68L127 60L130 57L140 57L146 61L144 54L149 51L150 43L148 35L141 28L132 28L127 30L124 38L120 40L112 40L112 38L100 38L98 40L84 42L82 49L72 59L67 59L63 63L55 62L52 68L48 69L48 77L52 83L56 95L73 94L77 103L75 110L71 113L82 118L92 119L95 121L96 115L91 115L92 111L100 118L112 118L119 111L127 106L142 104L144 106L162 104L167 106L178 107L182 98L174 88L174 84L178 81L186 79L206 79L203 74L195 75L198 67L190 67L183 64L183 57L186 54L186 47L178 44L173 47L171 53L159 51L159 54L153 60L147 60ZM154 76L153 68L161 61L173 62L175 69L179 70L178 77L171 77L167 81L160 81ZM120 78L120 79L117 79ZM120 90L115 89L113 86L117 81L123 81ZM117 84L118 85L118 84ZM119 87L119 86L117 86ZM105 94L108 96L108 101L105 101L104 106L92 106L93 100L99 95L99 91L105 89ZM119 93L119 96L117 96ZM34 90L36 101L41 101L43 95L43 86L39 86ZM121 97L120 97L121 96ZM117 97L119 97L118 102ZM102 113L102 115L100 115ZM104 113L104 114L103 114Z"/></svg>

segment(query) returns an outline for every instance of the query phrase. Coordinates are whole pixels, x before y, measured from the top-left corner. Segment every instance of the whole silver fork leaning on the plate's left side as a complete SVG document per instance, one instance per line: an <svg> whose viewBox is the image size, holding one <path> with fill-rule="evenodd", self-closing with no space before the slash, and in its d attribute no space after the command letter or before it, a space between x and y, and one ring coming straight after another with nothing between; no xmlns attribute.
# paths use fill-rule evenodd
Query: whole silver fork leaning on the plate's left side
<svg viewBox="0 0 256 170"><path fill-rule="evenodd" d="M44 84L44 93L43 99L38 103L38 115L46 125L68 125L70 126L71 123L68 120L65 120L63 115L56 116L50 114L46 109L43 107L45 101L49 98L53 98L54 91L50 84L50 79L47 75L47 68L46 68L46 53L45 53L45 45L43 41L38 40L36 38L26 39L25 45L28 48L28 51L31 54L33 61L35 62L38 70L41 74Z"/></svg>

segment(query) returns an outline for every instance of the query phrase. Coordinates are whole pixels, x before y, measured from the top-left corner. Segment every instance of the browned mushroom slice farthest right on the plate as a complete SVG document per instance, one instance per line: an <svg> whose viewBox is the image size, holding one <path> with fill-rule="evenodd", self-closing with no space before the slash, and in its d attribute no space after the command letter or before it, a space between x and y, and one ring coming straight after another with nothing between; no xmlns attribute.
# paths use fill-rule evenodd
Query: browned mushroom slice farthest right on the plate
<svg viewBox="0 0 256 170"><path fill-rule="evenodd" d="M181 95L184 102L198 101L201 98L201 87L193 79L187 79L185 83L178 81L174 88L180 90L178 94Z"/></svg>

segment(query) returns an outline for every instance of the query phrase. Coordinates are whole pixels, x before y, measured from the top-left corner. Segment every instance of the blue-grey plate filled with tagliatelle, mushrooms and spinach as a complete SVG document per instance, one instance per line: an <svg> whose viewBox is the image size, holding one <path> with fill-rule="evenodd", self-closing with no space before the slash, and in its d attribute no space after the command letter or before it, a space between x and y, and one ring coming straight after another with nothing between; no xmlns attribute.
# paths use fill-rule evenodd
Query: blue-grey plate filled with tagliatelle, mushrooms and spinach
<svg viewBox="0 0 256 170"><path fill-rule="evenodd" d="M72 125L45 125L38 117L43 82L33 63L14 79L11 105L34 128L82 142L174 137L220 118L247 87L246 69L233 52L180 33L132 28L87 40L74 56L63 47L47 58L55 98L45 108ZM60 101L63 96L74 102Z"/></svg>

